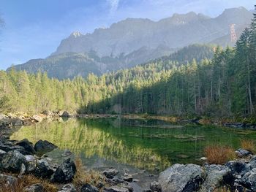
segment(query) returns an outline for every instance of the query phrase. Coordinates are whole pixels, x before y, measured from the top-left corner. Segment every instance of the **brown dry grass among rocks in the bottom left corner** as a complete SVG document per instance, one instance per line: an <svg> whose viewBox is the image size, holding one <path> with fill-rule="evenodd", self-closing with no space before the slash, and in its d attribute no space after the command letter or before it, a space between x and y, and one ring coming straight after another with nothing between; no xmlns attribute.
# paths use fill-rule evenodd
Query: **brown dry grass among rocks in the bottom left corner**
<svg viewBox="0 0 256 192"><path fill-rule="evenodd" d="M25 175L24 177L18 179L17 185L7 186L0 184L0 192L20 192L23 191L23 188L26 188L30 185L41 183L45 191L56 192L58 188L56 185L49 183L47 180L40 180L33 175Z"/></svg>

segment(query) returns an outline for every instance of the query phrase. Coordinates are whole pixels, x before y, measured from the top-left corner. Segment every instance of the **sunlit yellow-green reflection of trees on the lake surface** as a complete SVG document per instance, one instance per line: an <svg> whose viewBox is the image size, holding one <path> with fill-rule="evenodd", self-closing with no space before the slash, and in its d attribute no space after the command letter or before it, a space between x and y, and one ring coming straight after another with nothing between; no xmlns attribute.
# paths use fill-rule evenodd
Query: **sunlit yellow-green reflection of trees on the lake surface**
<svg viewBox="0 0 256 192"><path fill-rule="evenodd" d="M107 130L106 130L107 129ZM83 152L86 158L94 154L101 158L129 164L141 169L152 170L158 167L165 169L170 166L167 157L139 144L129 145L125 139L115 136L108 121L85 123L83 120L69 119L64 123L40 123L34 126L20 128L12 139L27 138L31 142L46 139L60 148L69 148L75 153ZM129 141L131 142L131 141ZM127 145L128 144L128 145Z"/></svg>

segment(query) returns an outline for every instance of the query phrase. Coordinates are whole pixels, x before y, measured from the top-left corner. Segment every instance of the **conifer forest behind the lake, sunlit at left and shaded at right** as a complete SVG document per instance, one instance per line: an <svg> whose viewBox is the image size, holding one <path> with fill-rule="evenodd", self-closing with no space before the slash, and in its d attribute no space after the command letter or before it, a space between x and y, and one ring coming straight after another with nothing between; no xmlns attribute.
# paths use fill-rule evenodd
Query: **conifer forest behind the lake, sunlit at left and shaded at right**
<svg viewBox="0 0 256 192"><path fill-rule="evenodd" d="M246 117L256 107L256 15L235 47L192 45L170 57L97 77L57 80L0 71L1 112Z"/></svg>

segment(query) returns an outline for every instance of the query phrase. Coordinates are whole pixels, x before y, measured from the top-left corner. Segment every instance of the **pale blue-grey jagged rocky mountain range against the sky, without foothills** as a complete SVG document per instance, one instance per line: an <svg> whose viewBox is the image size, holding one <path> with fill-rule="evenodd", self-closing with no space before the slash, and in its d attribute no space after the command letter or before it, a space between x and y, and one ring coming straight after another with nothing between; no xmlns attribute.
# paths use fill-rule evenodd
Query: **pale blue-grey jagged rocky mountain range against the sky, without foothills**
<svg viewBox="0 0 256 192"><path fill-rule="evenodd" d="M128 54L141 47L184 47L195 43L214 42L230 34L230 24L245 28L252 19L252 12L244 7L225 9L217 18L189 12L174 14L154 22L148 19L127 18L110 28L98 28L92 34L75 32L64 39L53 55L67 52L96 51L99 55ZM219 42L227 45L226 42ZM228 45L232 45L228 42Z"/></svg>

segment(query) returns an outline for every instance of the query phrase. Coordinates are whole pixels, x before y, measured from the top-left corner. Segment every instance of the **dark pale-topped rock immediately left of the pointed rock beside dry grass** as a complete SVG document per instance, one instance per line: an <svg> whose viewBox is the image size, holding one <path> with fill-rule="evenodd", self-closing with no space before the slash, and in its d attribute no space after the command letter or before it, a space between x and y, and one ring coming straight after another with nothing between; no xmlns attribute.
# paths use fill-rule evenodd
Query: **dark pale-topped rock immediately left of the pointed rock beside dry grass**
<svg viewBox="0 0 256 192"><path fill-rule="evenodd" d="M53 175L53 168L50 166L48 161L40 159L37 161L37 167L34 170L34 176L43 179L50 179Z"/></svg>

